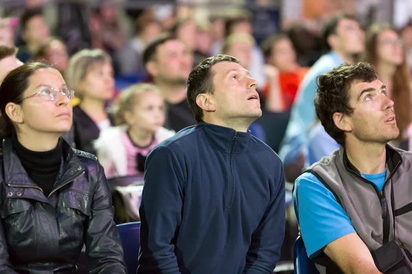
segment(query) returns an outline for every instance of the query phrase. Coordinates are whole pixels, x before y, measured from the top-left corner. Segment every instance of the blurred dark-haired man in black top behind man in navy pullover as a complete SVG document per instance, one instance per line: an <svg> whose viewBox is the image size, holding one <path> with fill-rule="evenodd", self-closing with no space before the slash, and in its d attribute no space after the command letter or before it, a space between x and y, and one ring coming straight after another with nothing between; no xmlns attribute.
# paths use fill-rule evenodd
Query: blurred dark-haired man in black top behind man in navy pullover
<svg viewBox="0 0 412 274"><path fill-rule="evenodd" d="M193 57L185 44L173 35L161 35L148 44L143 60L146 71L160 88L167 104L165 127L178 132L194 125L185 91Z"/></svg>

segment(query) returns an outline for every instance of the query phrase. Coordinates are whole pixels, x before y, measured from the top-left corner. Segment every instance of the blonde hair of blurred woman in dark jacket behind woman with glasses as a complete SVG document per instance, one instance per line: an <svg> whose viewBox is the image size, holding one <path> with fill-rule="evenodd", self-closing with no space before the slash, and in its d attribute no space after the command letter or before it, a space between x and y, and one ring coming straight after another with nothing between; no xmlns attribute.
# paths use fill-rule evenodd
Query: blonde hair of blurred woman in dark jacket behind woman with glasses
<svg viewBox="0 0 412 274"><path fill-rule="evenodd" d="M76 96L79 95L78 85L86 77L89 69L104 62L111 63L111 57L102 49L82 49L70 58L65 80L67 85L76 91Z"/></svg>

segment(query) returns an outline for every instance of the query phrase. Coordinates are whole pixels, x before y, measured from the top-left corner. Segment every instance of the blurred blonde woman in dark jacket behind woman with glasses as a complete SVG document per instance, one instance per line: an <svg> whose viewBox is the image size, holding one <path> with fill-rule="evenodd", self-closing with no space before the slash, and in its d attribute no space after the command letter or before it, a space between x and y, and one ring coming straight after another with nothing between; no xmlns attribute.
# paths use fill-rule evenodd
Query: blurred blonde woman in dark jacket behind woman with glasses
<svg viewBox="0 0 412 274"><path fill-rule="evenodd" d="M112 124L106 112L115 94L111 58L101 49L83 49L71 57L65 78L81 99L73 108L76 148L95 154L94 140Z"/></svg>

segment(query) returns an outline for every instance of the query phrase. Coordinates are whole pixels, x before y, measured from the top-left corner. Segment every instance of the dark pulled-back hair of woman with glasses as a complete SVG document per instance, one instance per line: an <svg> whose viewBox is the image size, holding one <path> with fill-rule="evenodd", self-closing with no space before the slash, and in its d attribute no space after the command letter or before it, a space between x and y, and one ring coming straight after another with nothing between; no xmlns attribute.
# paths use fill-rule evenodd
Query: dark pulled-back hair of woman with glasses
<svg viewBox="0 0 412 274"><path fill-rule="evenodd" d="M30 76L39 69L54 69L53 66L43 62L30 62L10 71L0 85L0 136L6 138L16 133L12 120L5 113L8 103L21 103L24 92L30 84Z"/></svg>

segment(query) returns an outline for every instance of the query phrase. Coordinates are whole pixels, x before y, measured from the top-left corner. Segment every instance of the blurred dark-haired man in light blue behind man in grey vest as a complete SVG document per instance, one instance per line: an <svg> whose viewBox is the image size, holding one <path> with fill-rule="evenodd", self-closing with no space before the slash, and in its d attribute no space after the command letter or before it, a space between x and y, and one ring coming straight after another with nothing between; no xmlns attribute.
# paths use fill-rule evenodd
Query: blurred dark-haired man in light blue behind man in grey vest
<svg viewBox="0 0 412 274"><path fill-rule="evenodd" d="M331 18L323 27L322 38L328 53L314 63L302 80L279 150L279 156L285 165L286 180L289 182L295 181L306 161L308 132L316 121L313 99L317 90L317 77L343 62L352 64L355 55L365 49L363 30L354 17L346 14L337 14Z"/></svg>

